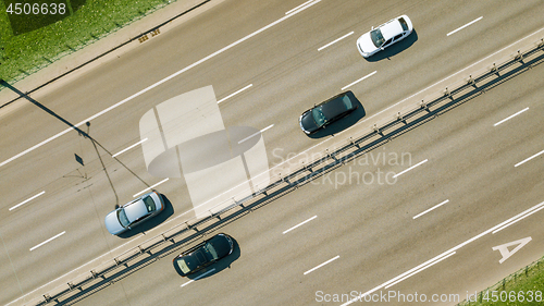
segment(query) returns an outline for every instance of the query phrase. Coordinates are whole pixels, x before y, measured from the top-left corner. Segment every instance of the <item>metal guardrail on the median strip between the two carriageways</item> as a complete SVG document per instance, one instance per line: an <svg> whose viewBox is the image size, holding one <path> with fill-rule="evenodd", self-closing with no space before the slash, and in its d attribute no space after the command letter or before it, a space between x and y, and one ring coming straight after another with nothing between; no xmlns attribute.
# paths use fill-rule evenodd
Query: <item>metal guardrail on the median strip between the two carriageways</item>
<svg viewBox="0 0 544 306"><path fill-rule="evenodd" d="M410 109L407 111L397 112L394 119L374 124L370 132L348 137L344 142L344 145L339 145L339 147L336 147L331 151L326 149L324 152L320 154L320 158L311 160L306 164L301 164L289 174L273 176L273 179L275 179L271 180L273 183L259 189L257 193L248 196L240 194L239 196L242 198L239 200L236 200L235 197L232 198L230 200L230 205L227 205L228 201L223 201L213 208L210 208L207 213L209 216L203 218L202 216L198 216L174 225L168 231L164 231L161 234L145 241L138 246L114 257L112 260L109 260L109 262L100 265L87 273L69 281L64 285L58 286L57 289L44 294L39 301L30 302L34 304L27 305L46 305L50 302L58 304L70 303L70 301L74 297L66 295L70 295L71 293L74 296L85 294L86 289L84 289L84 286L88 286L92 290L100 285L107 285L108 283L113 282L119 274L124 273L124 271L119 271L115 274L118 269L124 267L129 270L129 262L136 260L141 255L147 254L149 256L157 256L164 250L170 252L173 248L182 246L183 243L190 242L193 238L198 237L202 234L202 232L198 231L196 227L205 225L210 221L217 220L214 224L207 228L213 229L228 218L235 218L238 213L247 210L251 211L254 208L262 204L267 204L275 197L293 191L300 185L309 183L313 179L329 171L342 167L349 160L390 142L392 138L395 138L426 121L436 118L454 107L474 98L477 95L484 94L485 90L489 90L502 82L507 81L509 77L531 69L533 64L544 61L544 52L542 52L544 51L544 38L526 46L526 48L527 50L518 50L516 53L510 54L507 58L503 58L502 62L498 64L493 62L491 65L478 71L475 74L469 75L466 78L461 78L461 81L450 84L445 87L443 91L437 93L434 98L429 99L428 101L422 100L417 102L416 106L411 105ZM218 207L222 208L218 209ZM242 210L233 212L234 208L242 208ZM218 210L214 211L214 209ZM224 216L226 213L230 215ZM191 230L196 230L196 233L190 234L189 231ZM189 233L187 237L175 242L176 237L186 233ZM166 242L170 242L170 245L164 246L164 243ZM152 250L160 246L163 248L153 254ZM148 259L149 257L141 258L139 262ZM66 296L66 298L61 301L64 296Z"/></svg>

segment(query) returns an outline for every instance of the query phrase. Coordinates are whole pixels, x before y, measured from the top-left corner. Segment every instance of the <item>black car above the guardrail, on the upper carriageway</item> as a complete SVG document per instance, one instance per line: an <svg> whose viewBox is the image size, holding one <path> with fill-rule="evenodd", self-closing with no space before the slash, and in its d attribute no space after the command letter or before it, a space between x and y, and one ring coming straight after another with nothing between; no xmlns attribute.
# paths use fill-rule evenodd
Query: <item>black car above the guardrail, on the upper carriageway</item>
<svg viewBox="0 0 544 306"><path fill-rule="evenodd" d="M360 102L350 90L336 95L305 111L298 122L306 134L318 132L325 125L348 115L359 107Z"/></svg>

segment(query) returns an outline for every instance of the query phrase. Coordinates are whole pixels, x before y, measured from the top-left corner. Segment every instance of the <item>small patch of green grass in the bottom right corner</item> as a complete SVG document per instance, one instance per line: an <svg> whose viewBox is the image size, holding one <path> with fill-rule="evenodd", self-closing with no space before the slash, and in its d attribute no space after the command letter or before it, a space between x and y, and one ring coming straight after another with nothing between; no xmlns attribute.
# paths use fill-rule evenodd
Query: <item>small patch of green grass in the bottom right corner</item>
<svg viewBox="0 0 544 306"><path fill-rule="evenodd" d="M493 297L493 291L495 291L496 298ZM527 302L530 296L529 291L533 292L533 299L536 299L536 292L540 291L541 302L533 301ZM500 294L503 293L503 301L500 301ZM512 295L511 301L506 301L506 294ZM514 295L523 296L526 301L519 302L519 299L514 297ZM485 299L489 298L489 301ZM493 302L495 299L497 302ZM544 305L544 258L540 259L537 264L530 265L516 273L505 278L503 281L491 286L487 290L479 293L477 302L463 302L459 305L474 305L474 306L495 306L495 305Z"/></svg>

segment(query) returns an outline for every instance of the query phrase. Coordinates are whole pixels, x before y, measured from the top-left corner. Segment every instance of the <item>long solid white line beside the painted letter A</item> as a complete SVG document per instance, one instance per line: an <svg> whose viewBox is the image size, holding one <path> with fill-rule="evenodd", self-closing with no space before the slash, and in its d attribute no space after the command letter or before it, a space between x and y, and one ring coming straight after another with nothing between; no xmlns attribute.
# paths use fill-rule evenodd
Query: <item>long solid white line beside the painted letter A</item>
<svg viewBox="0 0 544 306"><path fill-rule="evenodd" d="M406 272L404 272L404 273L401 273L401 274L399 274L399 276L397 276L397 277L395 277L395 278L391 279L391 280L388 280L387 282L385 282L385 283L383 283L383 284L381 284L381 285L378 285L378 286L375 286L375 287L373 287L373 289L371 289L371 290L367 291L366 293L361 294L360 296L351 298L350 301L348 301L348 302L346 302L346 303L342 304L341 306L347 306L347 305L350 305L350 304L353 304L353 303L355 303L355 302L359 301L361 297L367 296L367 295L369 295L369 294L371 294L371 293L373 293L373 292L375 292L375 291L378 291L378 290L380 290L380 289L382 289L382 287L384 287L384 286L386 286L386 285L388 285L388 284L391 284L391 283L393 283L393 282L396 282L397 280L403 279L404 277L406 277L406 276L408 276L408 274L412 273L413 271L417 271L417 270L419 270L419 269L421 269L421 268L423 268L423 267L426 267L428 265L431 265L431 264L435 262L436 260L440 260L441 258L443 258L443 257L445 257L445 256L447 256L447 255L449 255L449 254L452 254L452 253L455 253L457 249L459 249L459 248L461 248L461 247L466 246L467 244L469 244L469 243L471 243L471 242L474 242L474 241L477 241L477 240L479 240L479 238L483 237L484 235L486 235L486 234L489 234L489 233L492 233L492 232L493 232L493 231L495 231L496 229L499 229L499 228L504 227L505 224L508 224L509 222L511 222L512 220L516 220L516 219L517 219L517 218L519 218L520 216L523 216L523 215L528 213L528 211L534 210L534 209L536 209L536 208L539 208L540 206L543 206L543 205L544 205L544 203L541 203L541 204L539 204L539 205L535 205L535 206L533 206L533 207L531 207L531 208L527 209L526 211L523 211L523 212L521 212L521 213L518 213L517 216L515 216L515 217L512 217L512 218L510 218L510 219L508 219L508 220L506 220L506 221L504 221L504 222L502 222L502 223L499 223L499 224L497 224L497 225L495 225L495 227L493 227L493 228L489 229L487 231L482 232L482 233L480 233L479 235L475 235L475 236L473 236L472 238L470 238L470 240L468 240L468 241L466 241L466 242L463 242L463 243L461 243L461 244L459 244L459 245L457 245L457 246L455 246L455 247L453 247L453 248L450 248L450 249L448 249L448 250L446 250L446 252L442 253L441 255L435 256L435 257L433 257L433 258L431 258L431 259L426 260L425 262L423 262L423 264L419 265L418 267L415 267L415 268L412 268L412 269L410 269L410 270L408 270L408 271L406 271Z"/></svg>

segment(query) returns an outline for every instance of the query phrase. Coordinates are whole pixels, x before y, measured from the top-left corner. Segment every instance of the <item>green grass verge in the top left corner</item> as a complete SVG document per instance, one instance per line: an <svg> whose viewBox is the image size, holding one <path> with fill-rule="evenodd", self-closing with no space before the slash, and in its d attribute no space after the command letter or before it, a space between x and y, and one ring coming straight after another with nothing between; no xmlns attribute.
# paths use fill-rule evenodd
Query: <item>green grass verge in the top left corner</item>
<svg viewBox="0 0 544 306"><path fill-rule="evenodd" d="M18 81L168 3L168 0L70 0L73 14L14 35L7 13L8 1L0 0L0 77L8 82Z"/></svg>

